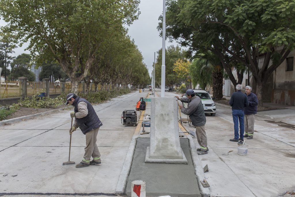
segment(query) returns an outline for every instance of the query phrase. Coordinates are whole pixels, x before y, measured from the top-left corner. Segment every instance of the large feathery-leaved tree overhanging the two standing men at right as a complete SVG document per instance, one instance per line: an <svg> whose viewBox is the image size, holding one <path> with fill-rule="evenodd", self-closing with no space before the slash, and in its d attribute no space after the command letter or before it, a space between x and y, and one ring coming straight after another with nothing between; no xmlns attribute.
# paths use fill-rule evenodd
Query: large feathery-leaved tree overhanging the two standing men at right
<svg viewBox="0 0 295 197"><path fill-rule="evenodd" d="M233 84L230 59L246 66L263 105L268 77L294 50L294 14L291 0L171 0L166 24L183 45L215 53Z"/></svg>

